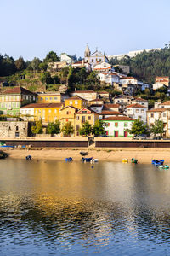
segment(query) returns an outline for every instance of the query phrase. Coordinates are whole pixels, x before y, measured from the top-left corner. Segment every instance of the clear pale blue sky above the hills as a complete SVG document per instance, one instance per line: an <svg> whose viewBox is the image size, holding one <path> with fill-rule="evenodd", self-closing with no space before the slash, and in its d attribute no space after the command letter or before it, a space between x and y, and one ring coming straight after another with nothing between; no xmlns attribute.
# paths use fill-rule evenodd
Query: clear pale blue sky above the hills
<svg viewBox="0 0 170 256"><path fill-rule="evenodd" d="M0 54L83 56L88 43L106 55L163 48L170 41L169 0L0 0Z"/></svg>

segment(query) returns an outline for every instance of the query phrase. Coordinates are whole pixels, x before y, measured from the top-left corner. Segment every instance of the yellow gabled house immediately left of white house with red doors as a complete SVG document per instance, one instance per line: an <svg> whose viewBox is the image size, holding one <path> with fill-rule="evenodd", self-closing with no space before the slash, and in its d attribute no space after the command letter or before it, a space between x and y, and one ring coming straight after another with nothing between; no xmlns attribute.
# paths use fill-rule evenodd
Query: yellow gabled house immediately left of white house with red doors
<svg viewBox="0 0 170 256"><path fill-rule="evenodd" d="M75 136L79 136L79 129L82 124L88 121L90 125L94 125L95 121L99 119L99 113L94 112L88 108L82 108L76 113L75 120Z"/></svg>

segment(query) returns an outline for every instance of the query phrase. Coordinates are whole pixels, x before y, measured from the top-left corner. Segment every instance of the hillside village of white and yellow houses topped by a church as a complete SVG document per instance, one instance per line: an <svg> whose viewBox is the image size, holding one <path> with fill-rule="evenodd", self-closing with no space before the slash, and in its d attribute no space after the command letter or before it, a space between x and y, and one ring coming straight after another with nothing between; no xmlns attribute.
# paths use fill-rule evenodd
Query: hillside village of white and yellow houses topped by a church
<svg viewBox="0 0 170 256"><path fill-rule="evenodd" d="M134 124L147 126L148 131L155 127L153 135L170 137L170 101L158 96L150 104L142 97L144 92L166 91L168 98L168 77L157 76L154 84L147 84L131 76L130 67L111 65L98 49L91 53L88 44L82 60L75 61L65 53L59 58L48 61L48 77L40 73L46 84L41 90L29 90L33 85L26 86L25 77L18 84L1 79L0 137L133 137L138 135L132 132ZM82 83L87 76L88 84L94 79L94 87L89 90L88 85L71 84L74 70L82 72L78 71ZM48 90L48 79L58 79L53 77L56 72L66 72L70 80L60 76L60 85ZM34 75L36 78L35 70Z"/></svg>

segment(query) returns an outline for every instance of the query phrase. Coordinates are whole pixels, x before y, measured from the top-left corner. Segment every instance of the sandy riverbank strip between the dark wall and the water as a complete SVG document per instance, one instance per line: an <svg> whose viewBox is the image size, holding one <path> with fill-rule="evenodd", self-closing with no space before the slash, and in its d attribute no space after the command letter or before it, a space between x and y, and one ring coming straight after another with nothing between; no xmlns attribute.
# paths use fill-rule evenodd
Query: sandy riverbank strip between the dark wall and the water
<svg viewBox="0 0 170 256"><path fill-rule="evenodd" d="M82 148L3 148L10 158L25 159L31 154L34 160L65 160L72 157L73 160L81 160ZM170 163L170 148L83 148L88 152L88 157L107 161L122 161L123 158L131 160L136 158L140 163L150 163L151 160L164 159Z"/></svg>

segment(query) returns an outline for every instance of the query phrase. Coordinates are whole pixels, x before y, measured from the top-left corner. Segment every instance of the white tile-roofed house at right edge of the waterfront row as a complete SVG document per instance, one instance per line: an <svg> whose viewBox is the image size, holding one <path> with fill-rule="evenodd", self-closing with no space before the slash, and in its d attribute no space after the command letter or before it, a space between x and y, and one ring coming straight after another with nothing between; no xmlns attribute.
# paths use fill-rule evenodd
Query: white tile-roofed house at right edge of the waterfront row
<svg viewBox="0 0 170 256"><path fill-rule="evenodd" d="M164 136L170 137L170 108L153 108L147 111L147 124L151 128L156 120L164 125Z"/></svg>

